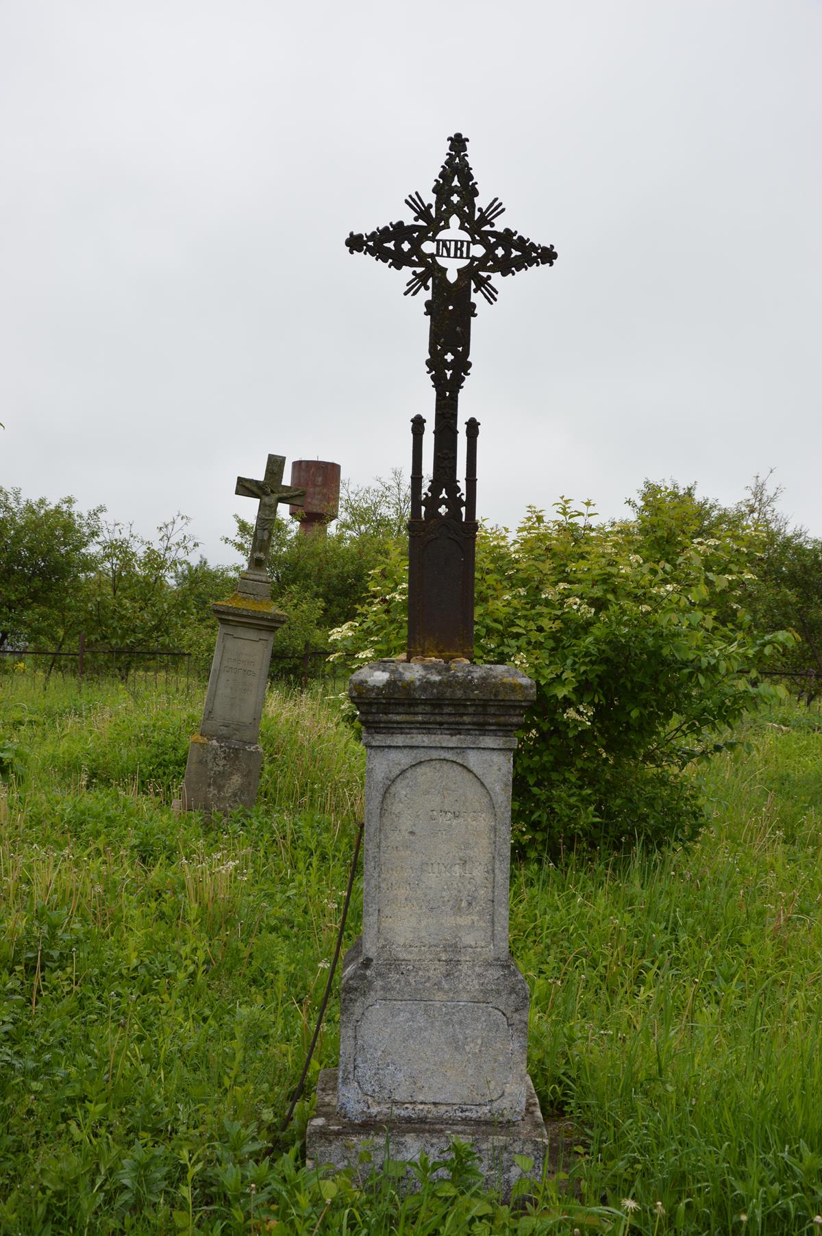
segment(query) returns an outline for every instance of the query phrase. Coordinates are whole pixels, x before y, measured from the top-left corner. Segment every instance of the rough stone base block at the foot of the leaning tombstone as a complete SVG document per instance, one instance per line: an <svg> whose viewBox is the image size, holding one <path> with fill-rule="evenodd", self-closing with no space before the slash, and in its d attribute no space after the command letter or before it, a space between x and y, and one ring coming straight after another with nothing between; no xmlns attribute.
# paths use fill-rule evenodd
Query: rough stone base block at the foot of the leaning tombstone
<svg viewBox="0 0 822 1236"><path fill-rule="evenodd" d="M180 791L183 811L227 815L253 807L262 768L262 747L230 738L194 734Z"/></svg>

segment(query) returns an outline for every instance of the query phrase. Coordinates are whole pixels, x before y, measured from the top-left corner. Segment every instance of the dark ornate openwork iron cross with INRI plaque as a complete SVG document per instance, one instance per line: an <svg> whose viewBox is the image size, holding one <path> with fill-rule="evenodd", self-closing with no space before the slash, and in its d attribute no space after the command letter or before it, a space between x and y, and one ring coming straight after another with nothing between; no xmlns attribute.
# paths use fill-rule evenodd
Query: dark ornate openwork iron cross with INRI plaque
<svg viewBox="0 0 822 1236"><path fill-rule="evenodd" d="M430 289L428 372L436 392L434 466L423 496L425 419L412 420L412 508L408 523L408 655L473 656L473 564L478 421L466 421L465 497L457 481L457 412L471 361L471 292L497 299L492 274L517 274L553 266L553 245L535 245L494 221L504 206L493 198L477 210L478 190L466 157L467 137L449 138L449 153L434 182L434 203L419 193L405 199L414 222L391 222L368 235L351 232L351 253L370 253L394 269L410 267L405 295Z"/></svg>

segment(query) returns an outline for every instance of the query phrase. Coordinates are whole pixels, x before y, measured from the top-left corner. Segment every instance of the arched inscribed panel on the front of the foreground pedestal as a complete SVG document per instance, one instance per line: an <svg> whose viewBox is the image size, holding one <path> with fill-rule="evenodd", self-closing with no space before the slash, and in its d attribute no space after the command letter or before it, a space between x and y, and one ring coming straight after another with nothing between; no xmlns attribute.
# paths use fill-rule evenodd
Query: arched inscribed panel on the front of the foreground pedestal
<svg viewBox="0 0 822 1236"><path fill-rule="evenodd" d="M491 795L465 765L423 760L400 772L381 810L378 946L491 955L494 837Z"/></svg>

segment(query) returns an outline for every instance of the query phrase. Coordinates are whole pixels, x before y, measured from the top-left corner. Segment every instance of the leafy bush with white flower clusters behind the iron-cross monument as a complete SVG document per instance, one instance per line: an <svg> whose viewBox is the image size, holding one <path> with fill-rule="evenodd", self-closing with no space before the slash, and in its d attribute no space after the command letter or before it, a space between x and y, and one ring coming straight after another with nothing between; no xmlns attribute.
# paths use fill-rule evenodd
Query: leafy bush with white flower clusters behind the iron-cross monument
<svg viewBox="0 0 822 1236"><path fill-rule="evenodd" d="M791 637L754 632L745 611L753 534L729 530L643 555L632 522L597 524L590 504L535 508L513 536L477 541L476 660L536 684L514 758L514 838L528 852L577 843L660 843L702 822L682 769L732 744L727 727L778 688L755 672ZM334 656L393 656L405 641L407 562L372 574Z"/></svg>

